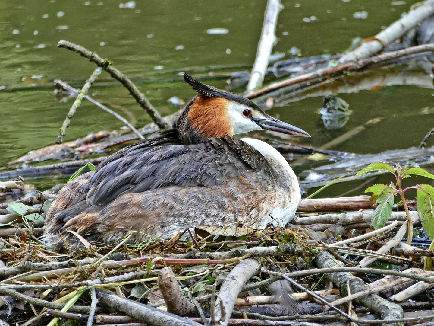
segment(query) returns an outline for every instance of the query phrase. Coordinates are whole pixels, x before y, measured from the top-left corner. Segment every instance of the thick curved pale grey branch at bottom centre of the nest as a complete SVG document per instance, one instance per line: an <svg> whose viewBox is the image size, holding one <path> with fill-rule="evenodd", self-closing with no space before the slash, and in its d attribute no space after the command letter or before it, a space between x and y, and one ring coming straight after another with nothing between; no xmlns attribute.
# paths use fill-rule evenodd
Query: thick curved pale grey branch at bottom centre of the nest
<svg viewBox="0 0 434 326"><path fill-rule="evenodd" d="M259 272L260 263L256 259L244 259L235 266L220 286L216 301L214 316L218 324L227 326L238 293L250 277ZM220 302L220 304L219 304ZM212 320L208 325L212 325Z"/></svg>

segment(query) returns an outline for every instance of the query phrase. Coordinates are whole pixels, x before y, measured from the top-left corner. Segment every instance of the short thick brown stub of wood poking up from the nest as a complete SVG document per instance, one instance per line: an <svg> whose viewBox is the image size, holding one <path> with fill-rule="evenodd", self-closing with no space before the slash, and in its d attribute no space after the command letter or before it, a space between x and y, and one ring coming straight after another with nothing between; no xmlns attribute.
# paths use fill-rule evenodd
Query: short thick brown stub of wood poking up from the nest
<svg viewBox="0 0 434 326"><path fill-rule="evenodd" d="M158 273L158 288L161 291L169 313L179 316L197 314L196 307L185 297L170 267L164 267Z"/></svg>

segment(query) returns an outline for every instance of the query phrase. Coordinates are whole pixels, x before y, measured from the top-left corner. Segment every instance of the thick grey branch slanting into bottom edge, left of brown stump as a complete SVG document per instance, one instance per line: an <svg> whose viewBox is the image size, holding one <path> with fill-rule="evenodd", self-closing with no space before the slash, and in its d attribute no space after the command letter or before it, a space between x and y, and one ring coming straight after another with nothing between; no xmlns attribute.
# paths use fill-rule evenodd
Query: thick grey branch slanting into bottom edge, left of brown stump
<svg viewBox="0 0 434 326"><path fill-rule="evenodd" d="M103 290L96 290L99 303L109 308L126 313L128 316L142 320L155 326L201 326L189 319L168 313L143 303L121 298Z"/></svg>

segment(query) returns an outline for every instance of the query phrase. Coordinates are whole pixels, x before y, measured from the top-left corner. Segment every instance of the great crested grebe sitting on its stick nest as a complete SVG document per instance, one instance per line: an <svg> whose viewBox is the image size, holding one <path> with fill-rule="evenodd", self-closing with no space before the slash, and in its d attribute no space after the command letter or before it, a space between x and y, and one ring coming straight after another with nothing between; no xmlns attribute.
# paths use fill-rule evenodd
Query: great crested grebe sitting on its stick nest
<svg viewBox="0 0 434 326"><path fill-rule="evenodd" d="M184 80L199 94L172 129L125 147L61 190L46 216L47 244L79 245L68 231L104 243L131 233L128 242L137 243L200 225L261 229L292 220L301 197L288 162L263 141L233 135L309 134L243 96L186 73Z"/></svg>

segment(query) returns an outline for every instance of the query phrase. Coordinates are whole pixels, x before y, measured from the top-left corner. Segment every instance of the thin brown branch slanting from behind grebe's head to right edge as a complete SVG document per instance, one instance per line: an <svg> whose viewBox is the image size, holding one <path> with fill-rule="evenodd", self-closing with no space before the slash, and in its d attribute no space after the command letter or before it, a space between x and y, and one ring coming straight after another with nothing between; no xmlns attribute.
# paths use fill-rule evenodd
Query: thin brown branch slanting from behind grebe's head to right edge
<svg viewBox="0 0 434 326"><path fill-rule="evenodd" d="M339 65L337 67L319 69L319 70L312 72L312 73L305 73L305 74L297 76L297 77L282 80L278 83L273 83L269 86L263 87L262 89L257 90L256 92L247 94L247 95L245 95L245 97L247 97L248 99L253 99L253 98L258 97L260 95L263 95L265 93L269 93L273 90L278 90L279 88L291 86L291 85L294 85L297 83L302 83L302 82L305 82L307 80L313 80L313 79L316 79L319 77L321 77L321 80L322 80L322 79L325 79L325 77L339 76L339 75L342 75L342 73L344 73L344 72L362 70L371 64L382 63L382 62L386 62L389 60L397 59L399 57L411 55L414 53L433 51L433 50L434 50L434 44L424 44L424 45L417 45L415 47L409 47L407 49L402 49L402 50L398 50L398 51L382 53L382 54L379 54L378 56L375 56L375 57L359 60L356 62L344 63L344 64Z"/></svg>

